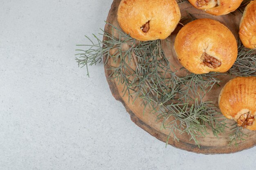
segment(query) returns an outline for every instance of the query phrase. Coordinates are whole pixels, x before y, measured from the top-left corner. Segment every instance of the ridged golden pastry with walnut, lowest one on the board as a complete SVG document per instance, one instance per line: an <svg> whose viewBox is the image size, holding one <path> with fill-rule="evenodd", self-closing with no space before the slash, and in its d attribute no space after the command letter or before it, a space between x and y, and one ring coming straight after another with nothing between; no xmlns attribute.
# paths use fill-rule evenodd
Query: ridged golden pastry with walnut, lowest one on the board
<svg viewBox="0 0 256 170"><path fill-rule="evenodd" d="M255 85L256 77L237 77L224 86L219 96L222 114L249 130L256 130Z"/></svg>

